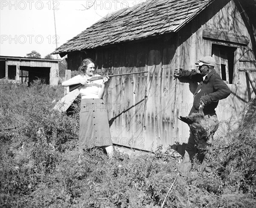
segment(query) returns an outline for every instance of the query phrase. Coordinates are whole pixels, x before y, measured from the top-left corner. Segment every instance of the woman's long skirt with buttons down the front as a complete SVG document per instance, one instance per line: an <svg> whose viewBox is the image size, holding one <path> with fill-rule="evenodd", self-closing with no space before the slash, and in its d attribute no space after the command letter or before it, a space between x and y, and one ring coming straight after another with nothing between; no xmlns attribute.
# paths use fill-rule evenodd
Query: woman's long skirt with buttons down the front
<svg viewBox="0 0 256 208"><path fill-rule="evenodd" d="M108 112L102 99L82 99L79 120L79 147L112 145Z"/></svg>

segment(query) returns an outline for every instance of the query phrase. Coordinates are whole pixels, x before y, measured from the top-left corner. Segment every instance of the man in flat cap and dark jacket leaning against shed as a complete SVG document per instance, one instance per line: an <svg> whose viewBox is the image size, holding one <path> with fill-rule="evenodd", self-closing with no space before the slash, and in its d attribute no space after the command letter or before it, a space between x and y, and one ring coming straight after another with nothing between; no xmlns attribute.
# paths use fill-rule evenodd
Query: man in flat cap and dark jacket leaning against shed
<svg viewBox="0 0 256 208"><path fill-rule="evenodd" d="M194 102L191 113L197 113L200 105L203 107L205 117L208 117L209 124L212 127L212 135L218 129L218 118L215 112L215 108L218 105L218 101L227 98L231 91L227 87L227 84L221 79L214 69L215 60L211 56L205 56L197 63L196 67L199 67L199 72L194 69L192 71L176 69L174 76L176 78L189 78L192 81L200 82L198 88L195 90ZM182 176L186 176L189 170L192 168L192 161L196 153L198 153L198 160L202 163L207 172L210 168L207 167L209 161L209 152L199 151L195 147L195 136L190 132L189 141L183 156L183 160L180 163L179 171ZM207 170L208 169L208 170Z"/></svg>

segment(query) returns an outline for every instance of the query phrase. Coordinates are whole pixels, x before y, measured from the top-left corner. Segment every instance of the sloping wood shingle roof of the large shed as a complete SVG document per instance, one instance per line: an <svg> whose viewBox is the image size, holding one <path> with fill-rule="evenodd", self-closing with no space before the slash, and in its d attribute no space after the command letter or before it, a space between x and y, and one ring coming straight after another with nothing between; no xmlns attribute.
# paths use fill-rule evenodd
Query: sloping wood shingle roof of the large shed
<svg viewBox="0 0 256 208"><path fill-rule="evenodd" d="M52 54L177 32L213 0L148 0L108 14Z"/></svg>

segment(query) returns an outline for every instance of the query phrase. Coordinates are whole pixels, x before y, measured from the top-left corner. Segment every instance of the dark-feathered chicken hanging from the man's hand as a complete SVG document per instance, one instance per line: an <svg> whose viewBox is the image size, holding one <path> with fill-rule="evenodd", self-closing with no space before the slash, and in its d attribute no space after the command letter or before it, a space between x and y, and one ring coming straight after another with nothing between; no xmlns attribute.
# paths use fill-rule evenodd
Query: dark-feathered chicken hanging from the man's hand
<svg viewBox="0 0 256 208"><path fill-rule="evenodd" d="M215 127L211 127L209 118L204 116L203 111L199 110L199 113L192 113L186 117L180 116L179 119L189 125L191 132L195 136L195 143L198 150L209 150Z"/></svg>

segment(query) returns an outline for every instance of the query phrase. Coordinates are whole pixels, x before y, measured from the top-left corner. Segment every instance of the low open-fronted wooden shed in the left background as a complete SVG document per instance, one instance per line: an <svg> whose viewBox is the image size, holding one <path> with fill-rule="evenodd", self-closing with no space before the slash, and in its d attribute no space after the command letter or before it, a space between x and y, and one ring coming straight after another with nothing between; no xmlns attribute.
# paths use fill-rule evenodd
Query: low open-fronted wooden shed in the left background
<svg viewBox="0 0 256 208"><path fill-rule="evenodd" d="M30 84L41 78L46 84L58 85L58 59L0 56L0 82Z"/></svg>

